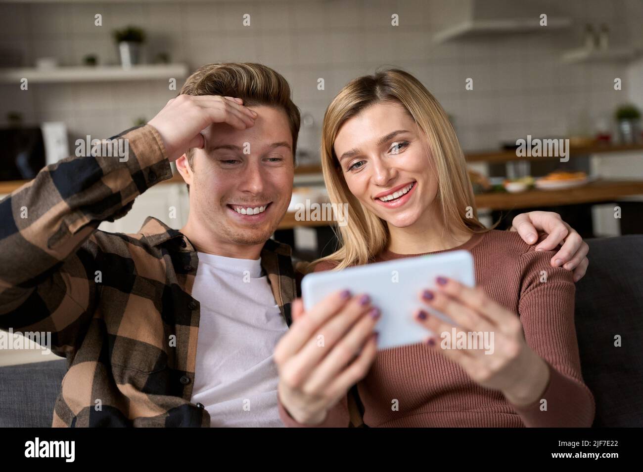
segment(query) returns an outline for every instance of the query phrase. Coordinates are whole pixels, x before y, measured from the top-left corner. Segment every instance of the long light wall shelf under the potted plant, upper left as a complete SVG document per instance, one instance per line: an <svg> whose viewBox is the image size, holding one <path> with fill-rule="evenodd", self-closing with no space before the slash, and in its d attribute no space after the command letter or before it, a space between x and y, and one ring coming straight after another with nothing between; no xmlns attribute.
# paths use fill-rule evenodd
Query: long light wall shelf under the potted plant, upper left
<svg viewBox="0 0 643 472"><path fill-rule="evenodd" d="M0 69L0 83L19 83L26 78L30 83L118 82L127 80L168 80L188 76L186 64L141 64L127 69L122 66L78 66L37 69Z"/></svg>

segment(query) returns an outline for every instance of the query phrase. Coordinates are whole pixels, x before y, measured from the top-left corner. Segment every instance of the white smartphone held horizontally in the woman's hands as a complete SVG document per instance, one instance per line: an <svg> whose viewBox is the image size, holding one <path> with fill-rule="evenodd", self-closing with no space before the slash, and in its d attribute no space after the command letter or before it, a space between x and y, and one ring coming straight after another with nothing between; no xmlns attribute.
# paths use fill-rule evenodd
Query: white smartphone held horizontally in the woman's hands
<svg viewBox="0 0 643 472"><path fill-rule="evenodd" d="M473 257L466 250L455 250L308 274L302 279L303 308L310 310L337 290L348 289L353 295L368 293L382 313L375 328L379 332L378 349L415 344L431 334L413 318L419 308L451 322L419 298L422 290L435 288L439 275L475 286Z"/></svg>

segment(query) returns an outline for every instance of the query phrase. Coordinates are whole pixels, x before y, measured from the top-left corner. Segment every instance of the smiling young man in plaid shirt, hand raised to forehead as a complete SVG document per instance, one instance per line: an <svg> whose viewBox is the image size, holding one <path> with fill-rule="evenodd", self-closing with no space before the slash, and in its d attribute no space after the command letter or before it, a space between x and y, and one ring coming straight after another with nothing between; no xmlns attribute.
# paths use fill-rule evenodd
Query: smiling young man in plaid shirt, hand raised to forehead
<svg viewBox="0 0 643 472"><path fill-rule="evenodd" d="M273 69L211 64L111 138L127 139L127 160L68 157L0 202L0 328L50 331L68 359L53 426L281 424L272 355L297 287L290 248L269 237L291 199L299 120ZM174 161L190 188L181 231L154 218L138 234L96 230ZM514 220L525 240L534 225L546 249L566 239L559 256L583 275L578 235L556 214Z"/></svg>

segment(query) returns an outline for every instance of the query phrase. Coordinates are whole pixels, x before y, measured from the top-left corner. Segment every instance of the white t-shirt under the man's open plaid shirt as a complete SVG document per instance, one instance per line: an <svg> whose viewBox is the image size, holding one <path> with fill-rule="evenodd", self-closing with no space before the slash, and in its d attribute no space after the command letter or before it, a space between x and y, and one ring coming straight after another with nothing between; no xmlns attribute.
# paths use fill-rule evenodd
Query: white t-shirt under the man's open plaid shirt
<svg viewBox="0 0 643 472"><path fill-rule="evenodd" d="M198 253L192 296L201 304L192 403L211 426L283 426L273 352L287 324L261 259Z"/></svg>

